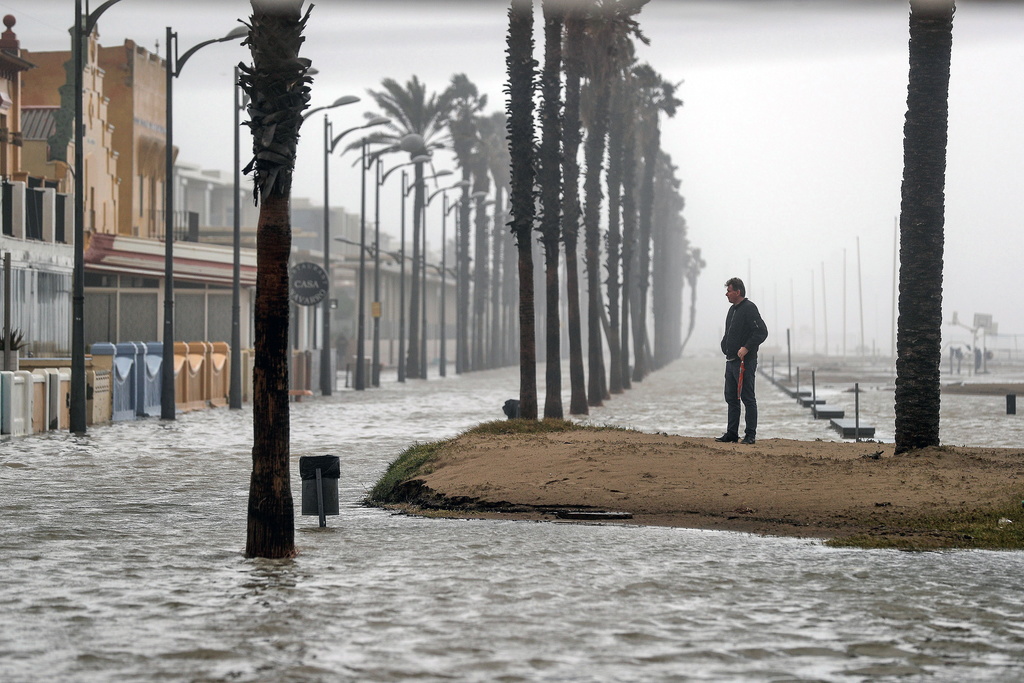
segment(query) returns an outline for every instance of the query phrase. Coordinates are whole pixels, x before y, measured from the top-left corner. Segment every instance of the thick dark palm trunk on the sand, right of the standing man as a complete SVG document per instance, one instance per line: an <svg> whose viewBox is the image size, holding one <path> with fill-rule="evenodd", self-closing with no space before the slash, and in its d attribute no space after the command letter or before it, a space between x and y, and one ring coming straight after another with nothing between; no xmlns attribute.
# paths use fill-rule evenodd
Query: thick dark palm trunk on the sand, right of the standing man
<svg viewBox="0 0 1024 683"><path fill-rule="evenodd" d="M903 127L896 453L939 444L942 250L953 0L910 0Z"/></svg>

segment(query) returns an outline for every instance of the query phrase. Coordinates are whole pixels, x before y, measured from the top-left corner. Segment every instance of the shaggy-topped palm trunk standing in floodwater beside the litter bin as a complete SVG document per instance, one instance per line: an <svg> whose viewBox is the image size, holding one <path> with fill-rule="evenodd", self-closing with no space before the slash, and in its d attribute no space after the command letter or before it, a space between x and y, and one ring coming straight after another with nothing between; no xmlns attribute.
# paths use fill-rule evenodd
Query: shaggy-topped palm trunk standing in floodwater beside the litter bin
<svg viewBox="0 0 1024 683"><path fill-rule="evenodd" d="M253 471L249 483L247 557L295 555L295 511L289 475L288 259L292 170L309 104L309 60L299 58L309 10L302 0L252 0L244 41L252 66L239 65L249 95L254 174L260 203L256 228L256 365L253 373ZM311 9L311 7L310 7Z"/></svg>

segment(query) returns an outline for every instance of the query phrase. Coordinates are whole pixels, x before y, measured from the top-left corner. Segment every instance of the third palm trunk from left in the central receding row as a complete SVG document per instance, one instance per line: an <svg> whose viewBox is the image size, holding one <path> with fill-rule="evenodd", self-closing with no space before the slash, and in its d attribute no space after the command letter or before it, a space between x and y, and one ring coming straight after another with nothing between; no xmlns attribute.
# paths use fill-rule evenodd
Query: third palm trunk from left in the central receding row
<svg viewBox="0 0 1024 683"><path fill-rule="evenodd" d="M569 414L587 415L580 314L580 82L586 57L587 9L583 3L565 12L565 106L562 112L562 242L565 245L565 303L569 342Z"/></svg>

